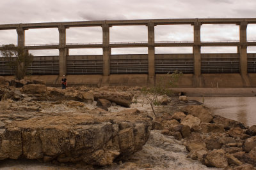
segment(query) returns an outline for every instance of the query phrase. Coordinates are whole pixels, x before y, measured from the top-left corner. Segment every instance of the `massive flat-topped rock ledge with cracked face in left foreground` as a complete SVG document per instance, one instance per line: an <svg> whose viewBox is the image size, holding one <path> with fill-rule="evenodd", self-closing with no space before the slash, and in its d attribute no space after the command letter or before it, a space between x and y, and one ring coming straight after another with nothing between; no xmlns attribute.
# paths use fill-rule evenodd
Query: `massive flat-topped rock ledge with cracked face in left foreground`
<svg viewBox="0 0 256 170"><path fill-rule="evenodd" d="M116 157L140 150L150 134L151 120L137 109L118 113L33 115L0 131L0 159L85 162L106 166Z"/></svg>

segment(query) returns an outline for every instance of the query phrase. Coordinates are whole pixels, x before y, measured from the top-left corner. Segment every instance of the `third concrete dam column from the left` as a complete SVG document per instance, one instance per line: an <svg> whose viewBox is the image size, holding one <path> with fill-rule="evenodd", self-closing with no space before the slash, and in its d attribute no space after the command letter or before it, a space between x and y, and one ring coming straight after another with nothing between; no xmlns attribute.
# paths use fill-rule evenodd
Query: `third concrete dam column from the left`
<svg viewBox="0 0 256 170"><path fill-rule="evenodd" d="M110 74L109 25L102 24L103 75Z"/></svg>

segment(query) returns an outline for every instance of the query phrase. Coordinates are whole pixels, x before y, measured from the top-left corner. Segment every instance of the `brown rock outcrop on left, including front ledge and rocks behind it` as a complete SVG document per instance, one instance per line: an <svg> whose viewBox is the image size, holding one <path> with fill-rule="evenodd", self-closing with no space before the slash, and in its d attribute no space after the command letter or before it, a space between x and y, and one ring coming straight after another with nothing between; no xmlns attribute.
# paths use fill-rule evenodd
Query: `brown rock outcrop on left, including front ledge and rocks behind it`
<svg viewBox="0 0 256 170"><path fill-rule="evenodd" d="M86 87L62 90L21 82L22 88L0 85L0 97L6 101L0 107L0 160L106 166L116 157L141 150L147 142L152 127L147 113L135 108L108 112L93 102L94 94L96 98L108 94L99 99L106 110L111 101L129 107L129 92L93 92Z"/></svg>

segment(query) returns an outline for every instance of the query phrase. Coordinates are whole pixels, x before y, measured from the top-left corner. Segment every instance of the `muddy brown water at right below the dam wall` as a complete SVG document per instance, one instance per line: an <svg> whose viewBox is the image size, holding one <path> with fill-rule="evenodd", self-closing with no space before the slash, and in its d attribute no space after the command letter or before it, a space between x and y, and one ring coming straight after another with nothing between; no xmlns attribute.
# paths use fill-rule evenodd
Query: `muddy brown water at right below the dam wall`
<svg viewBox="0 0 256 170"><path fill-rule="evenodd" d="M215 115L237 120L245 125L256 124L256 97L189 97L204 103Z"/></svg>

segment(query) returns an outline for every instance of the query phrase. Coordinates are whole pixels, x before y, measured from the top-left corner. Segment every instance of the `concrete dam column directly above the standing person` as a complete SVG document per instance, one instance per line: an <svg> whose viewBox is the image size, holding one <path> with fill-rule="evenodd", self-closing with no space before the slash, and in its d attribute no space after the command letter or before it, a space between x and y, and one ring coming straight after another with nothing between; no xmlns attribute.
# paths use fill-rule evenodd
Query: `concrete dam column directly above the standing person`
<svg viewBox="0 0 256 170"><path fill-rule="evenodd" d="M67 74L66 28L60 25L59 29L59 75Z"/></svg>

